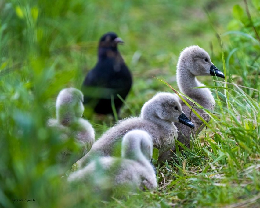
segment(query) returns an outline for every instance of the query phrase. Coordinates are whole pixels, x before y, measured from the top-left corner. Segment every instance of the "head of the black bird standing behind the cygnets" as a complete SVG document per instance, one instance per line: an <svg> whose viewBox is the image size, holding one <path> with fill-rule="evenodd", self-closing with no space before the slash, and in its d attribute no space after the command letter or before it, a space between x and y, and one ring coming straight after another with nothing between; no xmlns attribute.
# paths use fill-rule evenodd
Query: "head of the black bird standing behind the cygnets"
<svg viewBox="0 0 260 208"><path fill-rule="evenodd" d="M114 32L104 34L99 41L100 48L111 48L117 50L117 44L123 44L124 41Z"/></svg>

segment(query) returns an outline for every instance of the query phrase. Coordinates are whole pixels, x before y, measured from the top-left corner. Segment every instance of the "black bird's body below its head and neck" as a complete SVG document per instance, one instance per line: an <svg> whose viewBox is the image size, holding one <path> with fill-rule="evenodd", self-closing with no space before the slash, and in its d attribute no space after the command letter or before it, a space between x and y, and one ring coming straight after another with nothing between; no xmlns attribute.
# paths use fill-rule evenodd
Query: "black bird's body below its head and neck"
<svg viewBox="0 0 260 208"><path fill-rule="evenodd" d="M117 113L123 99L128 95L132 86L132 75L125 65L121 55L99 59L96 66L87 74L83 82L84 103L94 107L96 113L112 113L111 99Z"/></svg>

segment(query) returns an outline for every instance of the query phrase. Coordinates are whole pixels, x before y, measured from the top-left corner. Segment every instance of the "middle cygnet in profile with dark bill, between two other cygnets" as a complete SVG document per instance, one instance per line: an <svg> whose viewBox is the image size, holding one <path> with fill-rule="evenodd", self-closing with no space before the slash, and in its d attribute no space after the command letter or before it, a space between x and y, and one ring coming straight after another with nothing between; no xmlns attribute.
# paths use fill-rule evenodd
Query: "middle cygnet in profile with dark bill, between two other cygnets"
<svg viewBox="0 0 260 208"><path fill-rule="evenodd" d="M85 166L93 156L111 156L117 142L132 129L147 131L153 139L153 146L162 154L171 149L177 139L177 128L173 122L194 127L183 113L178 96L159 92L143 105L140 117L119 121L93 144L92 149L78 161L78 164L81 167Z"/></svg>

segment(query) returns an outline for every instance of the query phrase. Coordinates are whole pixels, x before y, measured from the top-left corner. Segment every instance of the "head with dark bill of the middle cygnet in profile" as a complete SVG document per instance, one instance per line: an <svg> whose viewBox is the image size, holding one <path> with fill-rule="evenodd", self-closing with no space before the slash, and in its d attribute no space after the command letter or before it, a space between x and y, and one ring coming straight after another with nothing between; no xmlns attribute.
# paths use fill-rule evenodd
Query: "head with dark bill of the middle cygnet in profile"
<svg viewBox="0 0 260 208"><path fill-rule="evenodd" d="M159 92L152 99L147 101L142 107L141 118L153 122L160 119L171 122L180 122L194 128L193 123L182 111L179 97L169 92Z"/></svg>

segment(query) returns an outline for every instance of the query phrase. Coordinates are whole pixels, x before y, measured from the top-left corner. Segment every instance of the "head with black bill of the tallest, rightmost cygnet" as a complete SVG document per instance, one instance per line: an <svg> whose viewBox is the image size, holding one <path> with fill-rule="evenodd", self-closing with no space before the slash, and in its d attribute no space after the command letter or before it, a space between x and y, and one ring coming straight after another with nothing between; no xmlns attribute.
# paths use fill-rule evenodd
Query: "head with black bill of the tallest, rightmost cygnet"
<svg viewBox="0 0 260 208"><path fill-rule="evenodd" d="M188 69L194 76L212 75L225 78L225 75L211 62L208 53L197 45L185 48L181 52L177 68Z"/></svg>

